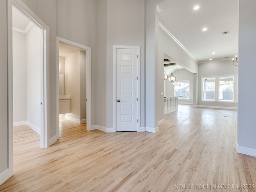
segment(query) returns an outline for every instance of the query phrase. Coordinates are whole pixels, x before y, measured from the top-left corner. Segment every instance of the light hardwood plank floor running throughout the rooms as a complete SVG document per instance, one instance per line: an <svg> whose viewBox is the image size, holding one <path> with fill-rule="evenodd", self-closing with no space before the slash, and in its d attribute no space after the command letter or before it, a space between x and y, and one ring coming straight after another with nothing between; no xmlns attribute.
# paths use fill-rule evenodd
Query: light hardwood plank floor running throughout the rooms
<svg viewBox="0 0 256 192"><path fill-rule="evenodd" d="M14 176L1 192L256 191L256 157L236 152L236 110L179 105L157 133L60 126L49 148L14 127Z"/></svg>

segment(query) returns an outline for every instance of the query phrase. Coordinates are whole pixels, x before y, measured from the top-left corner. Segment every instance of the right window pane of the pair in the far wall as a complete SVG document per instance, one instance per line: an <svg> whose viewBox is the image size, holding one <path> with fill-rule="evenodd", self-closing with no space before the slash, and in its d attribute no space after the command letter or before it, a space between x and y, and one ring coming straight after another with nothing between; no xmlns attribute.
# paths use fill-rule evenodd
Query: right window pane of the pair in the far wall
<svg viewBox="0 0 256 192"><path fill-rule="evenodd" d="M220 78L220 101L233 101L234 78Z"/></svg>

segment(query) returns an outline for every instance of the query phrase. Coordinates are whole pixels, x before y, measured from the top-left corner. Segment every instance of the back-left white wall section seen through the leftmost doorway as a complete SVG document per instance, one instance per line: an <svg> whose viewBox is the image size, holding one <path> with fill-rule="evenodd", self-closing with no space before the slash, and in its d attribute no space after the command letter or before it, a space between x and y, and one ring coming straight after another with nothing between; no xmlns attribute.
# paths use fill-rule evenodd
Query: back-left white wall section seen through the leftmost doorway
<svg viewBox="0 0 256 192"><path fill-rule="evenodd" d="M27 120L26 34L12 31L13 122Z"/></svg>

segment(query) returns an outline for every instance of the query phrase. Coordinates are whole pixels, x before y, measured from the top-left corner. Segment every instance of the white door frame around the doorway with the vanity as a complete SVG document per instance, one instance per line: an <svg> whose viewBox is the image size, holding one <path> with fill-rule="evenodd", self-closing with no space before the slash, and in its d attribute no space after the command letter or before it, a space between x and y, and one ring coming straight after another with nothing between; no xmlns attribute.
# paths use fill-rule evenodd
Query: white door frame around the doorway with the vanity
<svg viewBox="0 0 256 192"><path fill-rule="evenodd" d="M59 108L59 42L78 47L86 52L86 130L92 130L92 78L91 78L91 48L61 37L56 37L56 135L57 139L60 138L60 108Z"/></svg>

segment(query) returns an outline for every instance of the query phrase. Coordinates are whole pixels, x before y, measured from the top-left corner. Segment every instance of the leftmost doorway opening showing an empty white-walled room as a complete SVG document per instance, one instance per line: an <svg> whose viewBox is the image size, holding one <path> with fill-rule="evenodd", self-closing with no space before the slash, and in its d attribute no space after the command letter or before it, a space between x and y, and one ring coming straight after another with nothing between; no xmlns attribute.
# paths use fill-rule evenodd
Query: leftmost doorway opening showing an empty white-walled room
<svg viewBox="0 0 256 192"><path fill-rule="evenodd" d="M46 30L12 4L12 117L13 126L27 125L47 147Z"/></svg>

